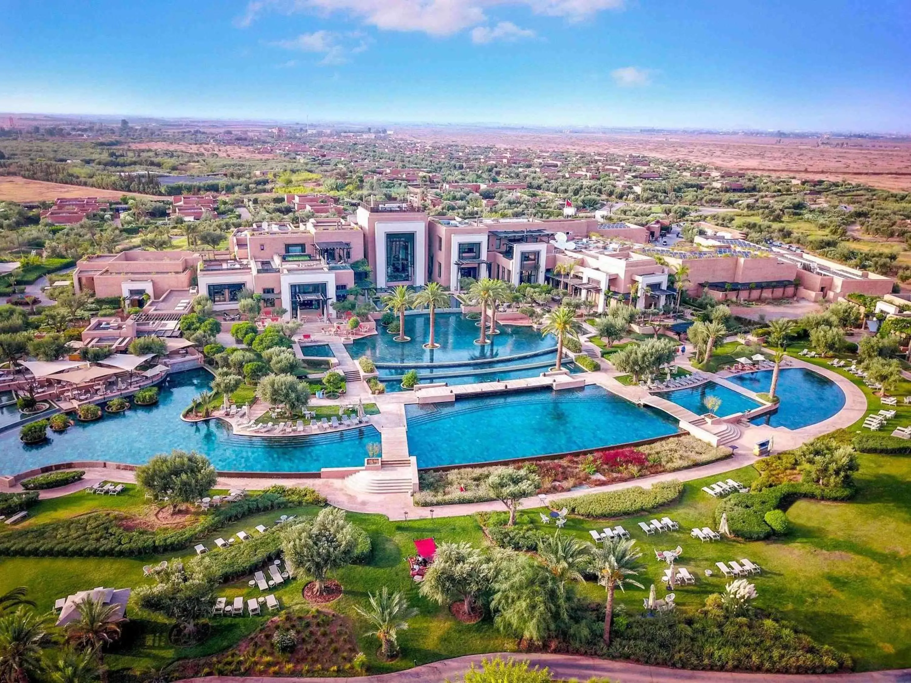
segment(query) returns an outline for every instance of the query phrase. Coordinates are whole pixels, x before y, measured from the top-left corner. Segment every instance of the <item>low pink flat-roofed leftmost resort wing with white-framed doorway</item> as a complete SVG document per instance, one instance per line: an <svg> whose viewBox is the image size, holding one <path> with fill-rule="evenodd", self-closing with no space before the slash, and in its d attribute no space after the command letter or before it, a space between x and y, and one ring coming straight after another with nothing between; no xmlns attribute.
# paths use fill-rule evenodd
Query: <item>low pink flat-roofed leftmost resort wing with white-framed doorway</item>
<svg viewBox="0 0 911 683"><path fill-rule="evenodd" d="M97 297L123 297L134 305L145 294L159 299L169 290L187 290L201 257L193 251L121 251L77 261L73 289Z"/></svg>

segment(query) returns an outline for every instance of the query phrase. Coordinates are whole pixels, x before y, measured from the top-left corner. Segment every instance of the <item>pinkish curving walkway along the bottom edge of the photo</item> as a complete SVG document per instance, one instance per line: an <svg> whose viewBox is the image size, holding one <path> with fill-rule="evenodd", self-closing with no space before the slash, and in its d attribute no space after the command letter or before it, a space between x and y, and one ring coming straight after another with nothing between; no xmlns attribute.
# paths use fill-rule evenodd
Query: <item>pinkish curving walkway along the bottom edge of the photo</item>
<svg viewBox="0 0 911 683"><path fill-rule="evenodd" d="M421 667L396 671L391 674L363 676L358 678L268 678L258 676L209 676L186 678L179 683L286 683L289 680L306 680L309 683L457 683L472 664L480 666L483 658L528 660L532 667L548 668L558 680L588 680L609 678L612 683L662 683L668 680L711 681L711 683L828 683L849 681L850 683L907 683L911 681L911 668L891 671L870 671L858 674L783 675L748 674L727 671L687 671L679 668L645 667L630 662L612 661L593 657L573 655L552 655L532 653L493 653L490 655L468 655L425 664Z"/></svg>

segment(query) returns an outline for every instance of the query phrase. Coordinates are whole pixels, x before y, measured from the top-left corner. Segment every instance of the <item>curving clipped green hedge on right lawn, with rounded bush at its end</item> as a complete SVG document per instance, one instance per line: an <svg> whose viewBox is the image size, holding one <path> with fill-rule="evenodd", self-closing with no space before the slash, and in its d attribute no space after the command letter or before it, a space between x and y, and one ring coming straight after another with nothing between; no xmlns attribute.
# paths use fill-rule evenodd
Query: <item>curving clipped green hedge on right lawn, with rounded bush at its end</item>
<svg viewBox="0 0 911 683"><path fill-rule="evenodd" d="M773 534L772 527L765 522L767 512L786 508L798 498L847 500L852 495L852 488L824 488L803 482L770 486L748 494L731 494L715 508L715 524L720 524L722 514L726 514L733 535L758 541Z"/></svg>

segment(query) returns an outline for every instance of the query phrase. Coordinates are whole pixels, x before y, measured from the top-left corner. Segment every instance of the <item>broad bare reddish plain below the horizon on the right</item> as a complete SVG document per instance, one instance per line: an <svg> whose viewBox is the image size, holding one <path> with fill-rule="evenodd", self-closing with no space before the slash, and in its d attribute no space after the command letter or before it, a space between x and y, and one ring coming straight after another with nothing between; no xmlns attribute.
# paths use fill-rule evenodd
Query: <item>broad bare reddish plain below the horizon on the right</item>
<svg viewBox="0 0 911 683"><path fill-rule="evenodd" d="M769 175L847 179L875 188L911 189L911 140L908 139L774 138L708 133L532 133L458 127L406 127L396 129L396 134L425 141L501 148L644 154Z"/></svg>

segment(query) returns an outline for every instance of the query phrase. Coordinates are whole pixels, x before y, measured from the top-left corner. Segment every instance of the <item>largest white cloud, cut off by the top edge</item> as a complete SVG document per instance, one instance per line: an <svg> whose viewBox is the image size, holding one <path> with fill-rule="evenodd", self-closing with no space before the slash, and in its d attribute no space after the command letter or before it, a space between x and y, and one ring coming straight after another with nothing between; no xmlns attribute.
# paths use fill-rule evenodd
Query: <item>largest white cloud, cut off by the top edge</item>
<svg viewBox="0 0 911 683"><path fill-rule="evenodd" d="M625 0L250 0L236 24L251 25L267 11L289 15L342 12L381 30L452 36L468 28L485 28L486 10L494 6L527 7L538 15L578 21L606 9L620 9L624 3ZM496 26L487 30L494 31Z"/></svg>

